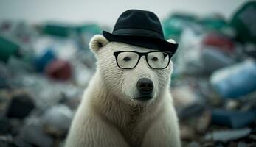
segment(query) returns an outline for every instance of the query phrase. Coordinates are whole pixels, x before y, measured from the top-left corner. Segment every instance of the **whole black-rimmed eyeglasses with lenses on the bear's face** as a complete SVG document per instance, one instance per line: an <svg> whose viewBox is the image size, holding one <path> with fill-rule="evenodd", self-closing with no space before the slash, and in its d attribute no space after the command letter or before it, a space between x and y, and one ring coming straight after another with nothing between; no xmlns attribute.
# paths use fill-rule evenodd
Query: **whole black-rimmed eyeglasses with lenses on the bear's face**
<svg viewBox="0 0 256 147"><path fill-rule="evenodd" d="M170 63L170 57L172 53L168 51L149 51L145 53L136 51L117 51L114 52L114 57L116 57L117 66L122 69L132 69L135 68L139 63L142 56L148 65L153 69L164 69Z"/></svg>

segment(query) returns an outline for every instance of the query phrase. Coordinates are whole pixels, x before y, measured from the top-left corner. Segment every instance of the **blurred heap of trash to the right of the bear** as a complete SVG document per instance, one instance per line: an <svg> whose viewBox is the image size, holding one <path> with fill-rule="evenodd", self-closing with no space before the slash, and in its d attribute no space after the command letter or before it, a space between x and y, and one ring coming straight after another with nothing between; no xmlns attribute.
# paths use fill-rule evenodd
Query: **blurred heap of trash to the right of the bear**
<svg viewBox="0 0 256 147"><path fill-rule="evenodd" d="M176 38L170 91L183 146L256 146L256 2L232 18L175 13L165 35Z"/></svg>

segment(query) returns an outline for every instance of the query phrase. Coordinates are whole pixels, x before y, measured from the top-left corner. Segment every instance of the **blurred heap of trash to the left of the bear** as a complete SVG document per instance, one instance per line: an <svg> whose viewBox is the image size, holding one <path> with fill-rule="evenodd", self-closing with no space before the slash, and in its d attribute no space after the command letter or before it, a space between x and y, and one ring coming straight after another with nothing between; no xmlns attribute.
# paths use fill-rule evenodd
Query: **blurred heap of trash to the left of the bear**
<svg viewBox="0 0 256 147"><path fill-rule="evenodd" d="M0 22L0 146L63 146L95 71L97 24Z"/></svg>

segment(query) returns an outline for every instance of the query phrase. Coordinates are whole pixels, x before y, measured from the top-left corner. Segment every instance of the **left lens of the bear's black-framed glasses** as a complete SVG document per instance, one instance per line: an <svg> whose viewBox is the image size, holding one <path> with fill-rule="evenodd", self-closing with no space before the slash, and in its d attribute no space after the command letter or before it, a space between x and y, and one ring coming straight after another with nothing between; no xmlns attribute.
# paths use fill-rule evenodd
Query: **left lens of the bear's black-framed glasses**
<svg viewBox="0 0 256 147"><path fill-rule="evenodd" d="M121 52L117 56L117 64L120 68L134 68L138 59L139 55L134 52Z"/></svg>

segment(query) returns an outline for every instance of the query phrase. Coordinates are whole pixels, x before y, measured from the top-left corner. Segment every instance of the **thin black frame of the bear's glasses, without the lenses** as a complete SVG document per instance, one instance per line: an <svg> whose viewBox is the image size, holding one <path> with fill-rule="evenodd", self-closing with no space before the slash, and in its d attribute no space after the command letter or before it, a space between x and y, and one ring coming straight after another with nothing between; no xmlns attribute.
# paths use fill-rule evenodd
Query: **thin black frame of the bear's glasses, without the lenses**
<svg viewBox="0 0 256 147"><path fill-rule="evenodd" d="M169 56L169 61L168 61L168 64L165 66L165 68L167 68L167 66L170 64L170 58L173 56L173 53L170 52L170 51L148 51L148 52L143 52L143 53L142 53L142 52L137 52L137 51L116 51L116 52L114 52L114 57L116 58L117 66L118 66L119 68L121 68L121 69L133 69L133 68L136 67L136 65L134 65L134 67L132 67L132 68L122 68L122 67L120 67L120 65L118 64L118 61L117 61L117 57L118 57L118 54L120 54L120 53L122 53L122 52L134 52L134 53L138 54L138 55L139 55L139 59L138 59L138 61L136 62L136 65L138 65L139 60L140 60L140 58L141 58L142 56L145 56L145 59L146 59L146 61L147 61L147 63L148 63L148 54L149 54L149 53L153 53L153 52L162 52L162 53L166 53L166 54L168 54L168 56ZM149 63L148 63L148 66L151 67L151 65L149 65ZM151 67L151 68L152 68L152 67ZM153 68L153 69L165 69L165 68Z"/></svg>

